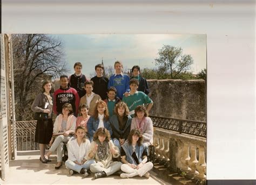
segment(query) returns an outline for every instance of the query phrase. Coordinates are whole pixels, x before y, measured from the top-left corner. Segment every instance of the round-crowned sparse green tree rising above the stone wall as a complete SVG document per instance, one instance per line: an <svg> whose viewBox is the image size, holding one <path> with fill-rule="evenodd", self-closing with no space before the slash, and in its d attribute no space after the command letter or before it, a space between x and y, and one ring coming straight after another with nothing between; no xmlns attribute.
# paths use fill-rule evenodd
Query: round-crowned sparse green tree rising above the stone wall
<svg viewBox="0 0 256 185"><path fill-rule="evenodd" d="M183 54L181 47L177 48L170 45L164 45L158 52L156 64L161 73L170 73L170 79L179 78L180 74L188 72L193 63L191 55Z"/></svg>

